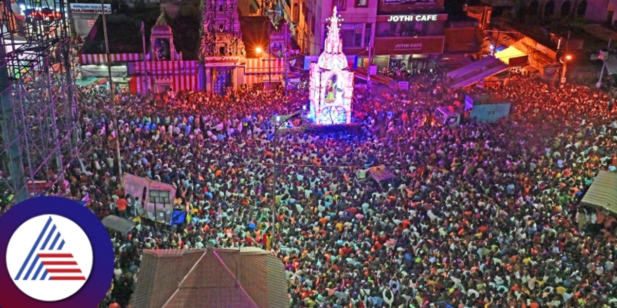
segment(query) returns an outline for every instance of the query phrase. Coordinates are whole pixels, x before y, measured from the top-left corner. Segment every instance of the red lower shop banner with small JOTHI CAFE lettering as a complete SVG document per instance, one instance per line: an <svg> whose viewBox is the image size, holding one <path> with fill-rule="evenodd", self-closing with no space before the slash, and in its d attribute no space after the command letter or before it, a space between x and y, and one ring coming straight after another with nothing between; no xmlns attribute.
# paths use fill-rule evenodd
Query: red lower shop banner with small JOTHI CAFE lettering
<svg viewBox="0 0 617 308"><path fill-rule="evenodd" d="M375 55L441 54L445 36L375 38Z"/></svg>

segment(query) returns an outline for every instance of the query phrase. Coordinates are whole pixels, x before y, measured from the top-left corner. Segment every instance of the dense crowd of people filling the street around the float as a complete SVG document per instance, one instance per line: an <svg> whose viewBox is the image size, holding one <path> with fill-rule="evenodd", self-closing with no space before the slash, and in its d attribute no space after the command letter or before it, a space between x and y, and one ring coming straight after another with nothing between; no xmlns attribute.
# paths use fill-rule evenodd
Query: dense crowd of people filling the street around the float
<svg viewBox="0 0 617 308"><path fill-rule="evenodd" d="M306 89L154 102L123 92L117 129L108 91L81 88L91 147L57 188L88 194L101 217L133 216L139 196L120 189L117 137L123 171L174 185L190 214L111 234L117 264L101 307L130 305L142 249L205 246L271 250L290 307L615 307L617 221L579 205L597 171L615 168L611 97L514 76L470 91L511 100L507 120L444 127L434 108L462 108L462 93L434 73L410 80L405 92L356 92L361 133L307 129L281 134L276 149L270 118L302 110ZM358 176L381 164L395 180Z"/></svg>

